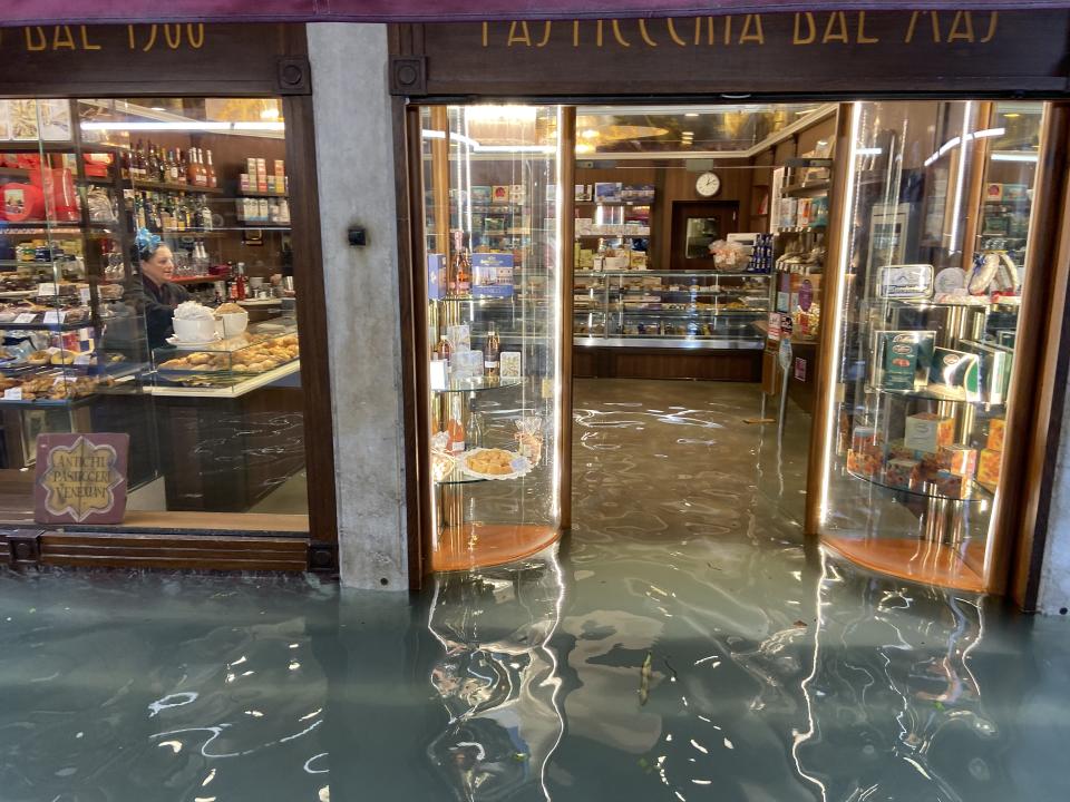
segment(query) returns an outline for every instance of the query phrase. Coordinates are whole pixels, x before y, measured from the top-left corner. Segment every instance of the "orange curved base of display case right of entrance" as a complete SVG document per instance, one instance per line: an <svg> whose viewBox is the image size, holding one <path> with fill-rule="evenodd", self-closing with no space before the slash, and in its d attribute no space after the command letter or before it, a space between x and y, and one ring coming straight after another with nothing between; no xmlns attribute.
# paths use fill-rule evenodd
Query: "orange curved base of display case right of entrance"
<svg viewBox="0 0 1070 802"><path fill-rule="evenodd" d="M909 581L955 590L984 593L984 579L966 565L962 552L941 542L918 538L824 537L821 542L839 556L869 570ZM967 546L972 560L983 560L980 546Z"/></svg>

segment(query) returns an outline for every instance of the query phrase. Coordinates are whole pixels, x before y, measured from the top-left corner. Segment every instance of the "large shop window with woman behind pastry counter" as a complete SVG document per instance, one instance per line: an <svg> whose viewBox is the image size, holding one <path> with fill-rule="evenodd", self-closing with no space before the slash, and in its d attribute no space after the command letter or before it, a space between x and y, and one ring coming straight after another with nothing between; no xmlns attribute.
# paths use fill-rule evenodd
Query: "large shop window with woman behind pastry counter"
<svg viewBox="0 0 1070 802"><path fill-rule="evenodd" d="M0 520L42 433L110 433L124 525L308 530L281 110L0 99Z"/></svg>

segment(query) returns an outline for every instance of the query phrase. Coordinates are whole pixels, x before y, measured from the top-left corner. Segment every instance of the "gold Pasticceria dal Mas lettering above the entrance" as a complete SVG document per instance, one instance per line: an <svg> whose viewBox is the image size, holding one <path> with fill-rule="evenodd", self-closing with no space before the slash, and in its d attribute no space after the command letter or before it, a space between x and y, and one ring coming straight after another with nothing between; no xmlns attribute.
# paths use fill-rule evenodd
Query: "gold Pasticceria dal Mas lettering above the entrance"
<svg viewBox="0 0 1070 802"><path fill-rule="evenodd" d="M782 38L770 37L768 17L781 14L727 14L696 17L681 22L663 19L572 20L543 22L542 31L533 32L537 22L483 22L480 42L485 48L543 48L555 41L570 41L574 48L656 48L674 47L766 47L766 46L836 46L877 45L881 37L872 33L873 18L865 11L800 11L794 14L794 27ZM996 35L999 11L913 11L896 14L898 31L893 41L902 45L986 45ZM691 25L693 36L681 31ZM869 25L867 30L866 26ZM155 27L155 26L154 26ZM535 29L537 30L537 28ZM591 38L583 35L587 33ZM132 40L133 41L133 40Z"/></svg>

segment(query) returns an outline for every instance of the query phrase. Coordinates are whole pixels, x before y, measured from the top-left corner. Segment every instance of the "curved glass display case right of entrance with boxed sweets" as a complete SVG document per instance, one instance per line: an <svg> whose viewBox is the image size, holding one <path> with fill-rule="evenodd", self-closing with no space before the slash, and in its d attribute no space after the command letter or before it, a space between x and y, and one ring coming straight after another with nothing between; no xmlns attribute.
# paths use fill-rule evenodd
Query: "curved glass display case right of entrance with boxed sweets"
<svg viewBox="0 0 1070 802"><path fill-rule="evenodd" d="M991 234L993 206L1028 231L1042 109L852 107L820 520L864 565L992 581L1006 409L1028 392L1011 376L1029 281L1024 239Z"/></svg>

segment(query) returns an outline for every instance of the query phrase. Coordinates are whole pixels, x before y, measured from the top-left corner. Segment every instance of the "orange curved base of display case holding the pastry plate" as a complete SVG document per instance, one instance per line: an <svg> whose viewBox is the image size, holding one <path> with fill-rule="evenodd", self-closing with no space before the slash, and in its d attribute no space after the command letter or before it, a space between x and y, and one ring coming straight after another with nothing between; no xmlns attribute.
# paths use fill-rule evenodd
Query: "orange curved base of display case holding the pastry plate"
<svg viewBox="0 0 1070 802"><path fill-rule="evenodd" d="M431 570L469 570L531 557L561 537L554 527L531 524L465 524L439 532Z"/></svg>

